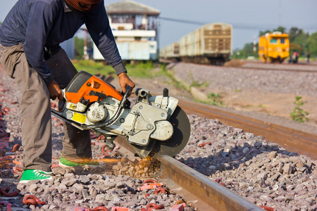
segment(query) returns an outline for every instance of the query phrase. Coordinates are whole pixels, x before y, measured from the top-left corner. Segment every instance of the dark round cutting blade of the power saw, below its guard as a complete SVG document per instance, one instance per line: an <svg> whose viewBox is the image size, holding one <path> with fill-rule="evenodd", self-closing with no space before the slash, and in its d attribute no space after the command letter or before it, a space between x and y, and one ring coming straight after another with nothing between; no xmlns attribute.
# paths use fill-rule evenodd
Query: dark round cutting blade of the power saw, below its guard
<svg viewBox="0 0 317 211"><path fill-rule="evenodd" d="M147 155L154 158L158 158L159 155L174 157L185 148L190 136L190 123L184 110L177 106L168 122L173 125L174 132L173 136L167 141L151 139L147 146L132 145L141 158L146 158Z"/></svg>

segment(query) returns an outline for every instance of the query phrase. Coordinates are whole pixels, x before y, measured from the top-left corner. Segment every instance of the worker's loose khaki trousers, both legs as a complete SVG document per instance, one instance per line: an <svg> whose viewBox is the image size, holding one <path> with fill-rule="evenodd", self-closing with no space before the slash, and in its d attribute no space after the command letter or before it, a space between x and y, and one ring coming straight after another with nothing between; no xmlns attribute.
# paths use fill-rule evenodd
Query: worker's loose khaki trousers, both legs
<svg viewBox="0 0 317 211"><path fill-rule="evenodd" d="M22 92L20 117L23 145L23 169L51 171L51 100L42 77L27 63L23 44L1 46L0 63ZM77 70L61 49L54 58L46 60L61 89L75 76ZM89 130L81 131L63 122L62 156L67 160L92 157Z"/></svg>

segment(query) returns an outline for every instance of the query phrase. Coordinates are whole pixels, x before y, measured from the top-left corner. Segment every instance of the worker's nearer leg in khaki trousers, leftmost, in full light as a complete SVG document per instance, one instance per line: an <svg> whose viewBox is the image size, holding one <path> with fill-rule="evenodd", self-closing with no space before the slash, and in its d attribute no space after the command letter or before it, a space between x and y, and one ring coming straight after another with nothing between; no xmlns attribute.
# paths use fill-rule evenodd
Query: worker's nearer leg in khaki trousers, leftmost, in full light
<svg viewBox="0 0 317 211"><path fill-rule="evenodd" d="M23 44L5 47L1 64L22 92L23 169L51 171L51 103L44 80L27 63Z"/></svg>

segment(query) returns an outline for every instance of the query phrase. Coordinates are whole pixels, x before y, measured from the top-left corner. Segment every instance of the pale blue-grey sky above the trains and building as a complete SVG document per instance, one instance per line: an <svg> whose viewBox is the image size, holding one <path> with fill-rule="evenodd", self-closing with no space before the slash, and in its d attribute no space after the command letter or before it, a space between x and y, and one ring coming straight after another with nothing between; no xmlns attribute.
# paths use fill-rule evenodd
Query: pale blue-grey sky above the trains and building
<svg viewBox="0 0 317 211"><path fill-rule="evenodd" d="M105 0L113 4L121 0ZM290 30L317 32L317 0L135 0L161 11L159 46L178 41L180 37L206 23L232 25L232 47L258 41L259 32L278 26ZM16 0L0 0L0 21L6 18ZM182 20L182 22L166 19ZM189 23L186 23L189 22ZM195 23L195 24L193 24Z"/></svg>

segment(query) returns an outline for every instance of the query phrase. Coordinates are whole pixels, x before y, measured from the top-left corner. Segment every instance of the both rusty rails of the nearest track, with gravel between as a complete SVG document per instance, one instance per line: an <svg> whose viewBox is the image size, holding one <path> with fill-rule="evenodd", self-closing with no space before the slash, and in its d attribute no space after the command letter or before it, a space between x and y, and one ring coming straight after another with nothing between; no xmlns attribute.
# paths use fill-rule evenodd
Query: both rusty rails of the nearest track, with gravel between
<svg viewBox="0 0 317 211"><path fill-rule="evenodd" d="M218 119L225 124L262 135L268 141L279 143L289 151L317 159L317 136L314 134L268 124L209 106L201 106L200 104L197 106L197 103L180 101L179 104L187 113ZM118 142L120 146L129 148L129 144L124 139L118 140L120 140ZM161 162L159 179L171 191L181 194L186 203L196 207L197 210L263 210L174 158L163 155L158 159Z"/></svg>

